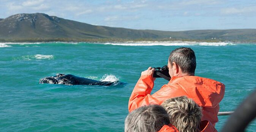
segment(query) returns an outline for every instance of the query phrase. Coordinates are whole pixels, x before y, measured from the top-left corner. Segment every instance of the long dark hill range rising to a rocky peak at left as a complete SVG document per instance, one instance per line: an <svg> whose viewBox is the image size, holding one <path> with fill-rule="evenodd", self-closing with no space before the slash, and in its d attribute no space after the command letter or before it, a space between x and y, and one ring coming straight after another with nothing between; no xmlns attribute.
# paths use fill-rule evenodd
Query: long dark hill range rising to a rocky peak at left
<svg viewBox="0 0 256 132"><path fill-rule="evenodd" d="M171 37L171 39L170 39ZM0 40L221 40L255 41L256 29L156 31L95 26L43 13L0 19Z"/></svg>

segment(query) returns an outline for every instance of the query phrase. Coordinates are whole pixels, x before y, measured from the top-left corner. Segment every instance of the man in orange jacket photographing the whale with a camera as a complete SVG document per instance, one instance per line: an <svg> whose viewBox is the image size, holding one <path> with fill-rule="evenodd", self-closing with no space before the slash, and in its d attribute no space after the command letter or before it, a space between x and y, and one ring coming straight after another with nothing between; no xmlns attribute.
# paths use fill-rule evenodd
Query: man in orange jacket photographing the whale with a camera
<svg viewBox="0 0 256 132"><path fill-rule="evenodd" d="M141 73L129 100L129 112L140 106L161 104L168 98L186 96L202 107L201 120L207 120L215 126L225 85L209 78L194 76L196 56L190 48L183 47L172 51L168 59L168 68L171 80L152 95L150 93L154 86L155 69L149 67Z"/></svg>

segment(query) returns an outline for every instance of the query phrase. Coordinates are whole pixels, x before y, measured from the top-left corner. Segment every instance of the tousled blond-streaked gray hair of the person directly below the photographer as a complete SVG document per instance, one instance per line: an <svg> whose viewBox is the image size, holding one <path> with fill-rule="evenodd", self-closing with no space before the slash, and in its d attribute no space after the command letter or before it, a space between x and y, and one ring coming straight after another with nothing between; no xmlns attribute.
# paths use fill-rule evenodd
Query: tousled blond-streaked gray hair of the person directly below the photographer
<svg viewBox="0 0 256 132"><path fill-rule="evenodd" d="M179 132L200 132L201 107L186 96L169 98L163 106L169 114L171 124Z"/></svg>

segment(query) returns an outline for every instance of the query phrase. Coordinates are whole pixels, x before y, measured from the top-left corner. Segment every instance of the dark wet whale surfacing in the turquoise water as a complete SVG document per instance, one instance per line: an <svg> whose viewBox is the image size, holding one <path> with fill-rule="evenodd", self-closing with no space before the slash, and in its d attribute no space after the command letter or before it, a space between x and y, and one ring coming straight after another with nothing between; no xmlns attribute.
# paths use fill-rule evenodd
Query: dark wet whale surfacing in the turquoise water
<svg viewBox="0 0 256 132"><path fill-rule="evenodd" d="M123 84L121 81L98 81L84 77L77 77L71 74L56 74L51 77L44 77L39 80L40 84L64 84L64 85L100 85L100 86L114 86Z"/></svg>

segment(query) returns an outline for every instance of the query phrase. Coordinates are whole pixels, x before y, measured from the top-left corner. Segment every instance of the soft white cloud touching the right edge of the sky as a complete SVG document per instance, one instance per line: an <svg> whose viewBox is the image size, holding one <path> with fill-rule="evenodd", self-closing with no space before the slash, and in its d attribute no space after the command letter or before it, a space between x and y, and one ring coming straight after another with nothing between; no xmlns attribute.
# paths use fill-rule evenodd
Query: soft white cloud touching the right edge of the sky
<svg viewBox="0 0 256 132"><path fill-rule="evenodd" d="M243 7L243 8L225 8L221 10L221 14L224 15L242 15L242 14L250 14L256 13L256 6Z"/></svg>

